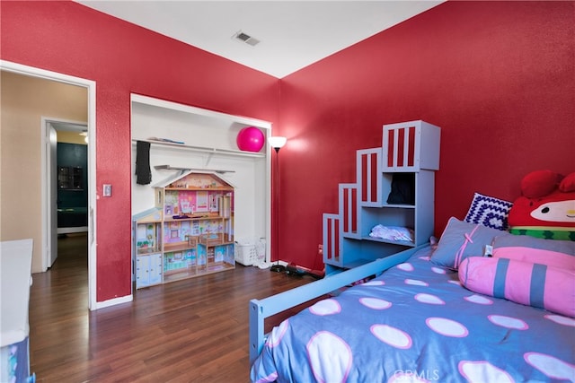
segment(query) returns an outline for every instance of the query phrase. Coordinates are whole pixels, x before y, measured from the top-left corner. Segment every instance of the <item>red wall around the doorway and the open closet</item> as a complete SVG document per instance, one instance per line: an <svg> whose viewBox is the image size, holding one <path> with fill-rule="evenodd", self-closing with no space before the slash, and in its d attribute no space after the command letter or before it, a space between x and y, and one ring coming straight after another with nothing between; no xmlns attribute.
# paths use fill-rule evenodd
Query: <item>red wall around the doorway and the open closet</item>
<svg viewBox="0 0 575 383"><path fill-rule="evenodd" d="M129 295L130 92L274 121L279 83L73 2L1 3L1 57L96 82L98 301Z"/></svg>

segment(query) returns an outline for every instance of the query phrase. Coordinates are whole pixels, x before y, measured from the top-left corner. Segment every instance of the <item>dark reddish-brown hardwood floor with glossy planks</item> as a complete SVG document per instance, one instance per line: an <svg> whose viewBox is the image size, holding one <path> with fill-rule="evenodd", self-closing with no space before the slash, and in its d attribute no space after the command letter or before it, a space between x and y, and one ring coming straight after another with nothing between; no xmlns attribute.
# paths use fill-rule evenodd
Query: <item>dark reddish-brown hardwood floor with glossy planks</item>
<svg viewBox="0 0 575 383"><path fill-rule="evenodd" d="M236 265L90 311L86 236L69 235L49 271L33 274L31 372L39 382L247 382L249 300L312 281Z"/></svg>

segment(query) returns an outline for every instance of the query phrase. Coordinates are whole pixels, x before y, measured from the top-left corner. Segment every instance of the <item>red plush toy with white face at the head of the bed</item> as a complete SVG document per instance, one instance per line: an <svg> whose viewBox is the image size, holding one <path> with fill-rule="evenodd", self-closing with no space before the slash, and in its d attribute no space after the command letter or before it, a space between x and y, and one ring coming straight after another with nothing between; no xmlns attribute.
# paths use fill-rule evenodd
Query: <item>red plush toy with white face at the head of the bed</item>
<svg viewBox="0 0 575 383"><path fill-rule="evenodd" d="M575 240L575 173L533 171L521 180L521 194L509 211L509 231Z"/></svg>

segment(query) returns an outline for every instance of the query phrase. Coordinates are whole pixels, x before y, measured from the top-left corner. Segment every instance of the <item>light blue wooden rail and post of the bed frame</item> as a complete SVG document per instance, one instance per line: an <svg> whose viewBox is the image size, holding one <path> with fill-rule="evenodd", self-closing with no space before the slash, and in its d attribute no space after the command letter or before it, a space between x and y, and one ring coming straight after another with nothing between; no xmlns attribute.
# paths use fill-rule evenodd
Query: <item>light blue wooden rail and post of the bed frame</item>
<svg viewBox="0 0 575 383"><path fill-rule="evenodd" d="M287 309L296 307L306 301L313 300L329 292L354 283L369 275L381 274L394 265L405 262L416 251L429 245L410 248L389 257L376 259L365 265L346 270L339 274L331 274L322 280L307 283L288 292L280 292L263 300L250 300L250 365L261 353L266 341L264 320Z"/></svg>

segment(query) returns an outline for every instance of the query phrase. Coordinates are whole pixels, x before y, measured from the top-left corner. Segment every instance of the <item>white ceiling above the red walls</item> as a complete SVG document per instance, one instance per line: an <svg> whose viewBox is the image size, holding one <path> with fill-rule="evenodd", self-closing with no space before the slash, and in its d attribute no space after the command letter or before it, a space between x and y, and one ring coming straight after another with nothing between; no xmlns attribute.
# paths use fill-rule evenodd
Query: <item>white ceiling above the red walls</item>
<svg viewBox="0 0 575 383"><path fill-rule="evenodd" d="M278 78L443 2L76 1ZM239 31L261 42L235 39Z"/></svg>

